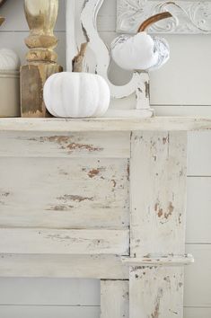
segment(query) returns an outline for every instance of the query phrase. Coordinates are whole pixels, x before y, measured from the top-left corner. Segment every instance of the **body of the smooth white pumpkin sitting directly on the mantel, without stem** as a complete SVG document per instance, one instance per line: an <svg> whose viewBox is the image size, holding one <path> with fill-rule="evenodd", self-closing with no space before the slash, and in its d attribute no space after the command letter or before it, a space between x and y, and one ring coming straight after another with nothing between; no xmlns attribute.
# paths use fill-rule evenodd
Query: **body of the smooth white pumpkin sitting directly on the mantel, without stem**
<svg viewBox="0 0 211 318"><path fill-rule="evenodd" d="M48 77L44 102L55 117L101 117L110 105L110 88L100 75L57 73Z"/></svg>

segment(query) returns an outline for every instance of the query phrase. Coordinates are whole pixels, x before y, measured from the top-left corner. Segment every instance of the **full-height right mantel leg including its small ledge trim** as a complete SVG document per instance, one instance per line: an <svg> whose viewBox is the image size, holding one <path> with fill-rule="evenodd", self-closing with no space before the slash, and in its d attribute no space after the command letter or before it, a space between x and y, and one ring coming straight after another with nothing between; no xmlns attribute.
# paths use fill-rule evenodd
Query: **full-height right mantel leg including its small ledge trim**
<svg viewBox="0 0 211 318"><path fill-rule="evenodd" d="M186 132L133 133L130 318L182 318Z"/></svg>

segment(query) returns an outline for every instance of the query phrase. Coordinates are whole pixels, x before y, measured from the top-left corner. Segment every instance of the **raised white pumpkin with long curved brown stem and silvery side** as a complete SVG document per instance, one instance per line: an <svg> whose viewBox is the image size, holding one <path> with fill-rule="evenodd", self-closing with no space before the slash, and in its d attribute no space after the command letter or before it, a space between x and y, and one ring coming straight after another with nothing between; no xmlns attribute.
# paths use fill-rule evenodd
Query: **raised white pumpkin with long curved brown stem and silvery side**
<svg viewBox="0 0 211 318"><path fill-rule="evenodd" d="M135 36L120 35L111 43L111 54L118 66L127 70L152 70L163 66L170 57L166 40L151 37L145 29L154 22L171 17L171 13L159 13L147 19Z"/></svg>

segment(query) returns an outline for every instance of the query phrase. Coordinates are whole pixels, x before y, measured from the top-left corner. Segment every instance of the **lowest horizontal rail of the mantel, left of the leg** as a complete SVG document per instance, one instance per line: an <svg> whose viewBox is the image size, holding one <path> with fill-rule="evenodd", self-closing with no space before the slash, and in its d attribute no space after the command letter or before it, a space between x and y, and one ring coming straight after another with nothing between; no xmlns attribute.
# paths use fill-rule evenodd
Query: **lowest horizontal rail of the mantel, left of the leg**
<svg viewBox="0 0 211 318"><path fill-rule="evenodd" d="M0 277L128 279L128 269L115 255L0 254Z"/></svg>

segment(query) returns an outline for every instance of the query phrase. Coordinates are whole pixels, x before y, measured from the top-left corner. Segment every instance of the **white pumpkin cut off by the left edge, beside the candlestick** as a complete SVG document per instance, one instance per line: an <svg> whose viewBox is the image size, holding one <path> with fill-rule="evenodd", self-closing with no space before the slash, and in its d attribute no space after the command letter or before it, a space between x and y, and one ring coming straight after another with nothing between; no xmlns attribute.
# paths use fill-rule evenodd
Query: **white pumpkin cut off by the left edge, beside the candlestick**
<svg viewBox="0 0 211 318"><path fill-rule="evenodd" d="M21 61L12 49L0 49L0 71L19 71Z"/></svg>

